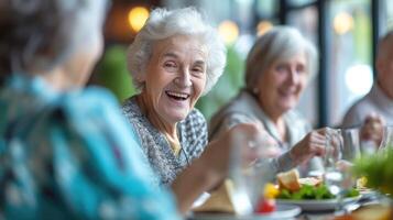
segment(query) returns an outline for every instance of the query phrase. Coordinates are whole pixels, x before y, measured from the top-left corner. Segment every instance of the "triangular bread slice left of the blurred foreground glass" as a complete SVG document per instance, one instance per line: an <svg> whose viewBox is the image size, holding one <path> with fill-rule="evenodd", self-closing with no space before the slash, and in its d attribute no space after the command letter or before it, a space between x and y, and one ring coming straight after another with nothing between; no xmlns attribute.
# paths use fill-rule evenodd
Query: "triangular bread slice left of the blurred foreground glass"
<svg viewBox="0 0 393 220"><path fill-rule="evenodd" d="M227 212L234 213L233 204L230 199L232 193L232 182L226 179L211 196L199 207L194 208L195 212Z"/></svg>

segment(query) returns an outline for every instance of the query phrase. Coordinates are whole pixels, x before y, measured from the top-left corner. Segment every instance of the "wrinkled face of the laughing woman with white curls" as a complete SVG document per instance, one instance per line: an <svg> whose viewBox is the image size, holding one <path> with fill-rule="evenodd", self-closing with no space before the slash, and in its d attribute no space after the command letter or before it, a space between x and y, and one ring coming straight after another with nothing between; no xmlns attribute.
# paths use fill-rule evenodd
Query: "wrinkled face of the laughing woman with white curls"
<svg viewBox="0 0 393 220"><path fill-rule="evenodd" d="M204 91L206 65L207 50L196 37L175 35L159 41L142 79L148 107L168 123L185 119Z"/></svg>

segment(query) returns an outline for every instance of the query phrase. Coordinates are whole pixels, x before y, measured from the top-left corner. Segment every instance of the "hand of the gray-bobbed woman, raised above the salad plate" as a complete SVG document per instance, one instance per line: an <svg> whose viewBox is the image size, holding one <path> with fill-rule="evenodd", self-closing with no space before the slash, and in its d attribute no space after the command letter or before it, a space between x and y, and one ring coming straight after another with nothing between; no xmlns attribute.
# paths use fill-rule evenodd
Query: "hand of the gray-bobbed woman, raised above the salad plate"
<svg viewBox="0 0 393 220"><path fill-rule="evenodd" d="M294 164L308 162L314 156L325 155L326 133L329 128L323 128L309 132L301 142L291 148L291 157Z"/></svg>

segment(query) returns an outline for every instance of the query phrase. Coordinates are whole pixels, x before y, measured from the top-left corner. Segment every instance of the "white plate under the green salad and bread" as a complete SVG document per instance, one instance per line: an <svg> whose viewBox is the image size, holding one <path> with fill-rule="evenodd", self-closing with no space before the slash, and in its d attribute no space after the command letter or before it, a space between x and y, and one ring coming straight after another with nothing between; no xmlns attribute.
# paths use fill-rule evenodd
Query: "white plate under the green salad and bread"
<svg viewBox="0 0 393 220"><path fill-rule="evenodd" d="M342 204L356 202L361 196L345 198ZM296 205L302 208L303 211L330 211L336 208L337 199L309 199L309 200L292 200L292 199L276 199L279 205Z"/></svg>

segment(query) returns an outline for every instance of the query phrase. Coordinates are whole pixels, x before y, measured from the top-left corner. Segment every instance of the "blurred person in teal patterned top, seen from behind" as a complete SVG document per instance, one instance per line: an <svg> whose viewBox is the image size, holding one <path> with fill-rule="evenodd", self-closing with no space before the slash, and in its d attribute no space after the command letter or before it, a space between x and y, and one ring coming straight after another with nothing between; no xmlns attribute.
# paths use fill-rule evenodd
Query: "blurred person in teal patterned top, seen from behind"
<svg viewBox="0 0 393 220"><path fill-rule="evenodd" d="M151 187L114 98L83 88L101 54L107 3L0 3L0 219L181 218L171 194ZM211 145L229 151L233 132L258 134L242 125ZM184 177L195 190L179 198L181 211L226 175L228 154L209 148L189 167L198 175Z"/></svg>

